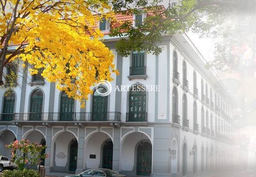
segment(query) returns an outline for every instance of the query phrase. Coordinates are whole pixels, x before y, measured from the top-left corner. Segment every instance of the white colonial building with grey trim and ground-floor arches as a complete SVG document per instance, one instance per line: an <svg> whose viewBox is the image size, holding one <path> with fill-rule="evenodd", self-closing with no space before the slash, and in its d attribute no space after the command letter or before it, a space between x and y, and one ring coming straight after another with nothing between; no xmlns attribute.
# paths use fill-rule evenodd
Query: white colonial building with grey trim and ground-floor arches
<svg viewBox="0 0 256 177"><path fill-rule="evenodd" d="M108 30L104 23L100 29ZM47 173L101 167L129 176L180 177L231 167L235 101L205 69L188 36L163 36L158 56L122 57L116 41L105 35L120 75L112 75L110 95L95 92L85 108L55 83L29 75L20 62L24 77L12 94L0 90L0 154L10 157L4 145L27 139L47 145ZM114 91L121 85L135 89ZM138 91L139 85L159 85L160 91Z"/></svg>

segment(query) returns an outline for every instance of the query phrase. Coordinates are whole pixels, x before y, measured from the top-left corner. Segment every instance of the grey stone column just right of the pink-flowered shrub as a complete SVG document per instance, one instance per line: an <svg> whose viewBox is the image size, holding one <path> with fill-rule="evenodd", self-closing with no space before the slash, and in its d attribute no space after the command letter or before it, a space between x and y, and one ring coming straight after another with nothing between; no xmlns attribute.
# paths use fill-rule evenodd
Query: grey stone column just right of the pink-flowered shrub
<svg viewBox="0 0 256 177"><path fill-rule="evenodd" d="M46 158L45 161L44 161L45 173L49 173L51 168L52 168L52 167L50 167L50 159L53 158L53 157L50 156L51 155L51 130L52 130L51 127L46 127L46 140L45 140L45 142L46 142L47 148L45 149L45 153L48 154L49 157ZM52 148L54 148L54 145L53 145Z"/></svg>

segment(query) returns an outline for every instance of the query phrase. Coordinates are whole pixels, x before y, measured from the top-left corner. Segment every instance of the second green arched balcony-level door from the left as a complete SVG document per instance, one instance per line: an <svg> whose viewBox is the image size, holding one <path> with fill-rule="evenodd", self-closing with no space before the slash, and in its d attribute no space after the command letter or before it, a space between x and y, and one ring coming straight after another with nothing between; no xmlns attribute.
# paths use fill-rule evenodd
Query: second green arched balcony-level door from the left
<svg viewBox="0 0 256 177"><path fill-rule="evenodd" d="M43 110L43 93L35 90L30 100L30 121L41 121Z"/></svg>

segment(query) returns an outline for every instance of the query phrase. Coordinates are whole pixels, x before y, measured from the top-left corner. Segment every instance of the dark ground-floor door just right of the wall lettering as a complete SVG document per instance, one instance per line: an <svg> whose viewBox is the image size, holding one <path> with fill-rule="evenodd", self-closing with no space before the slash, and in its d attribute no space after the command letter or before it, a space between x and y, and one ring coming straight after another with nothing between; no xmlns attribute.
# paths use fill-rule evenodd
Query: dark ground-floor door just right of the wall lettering
<svg viewBox="0 0 256 177"><path fill-rule="evenodd" d="M77 165L77 148L78 142L76 139L73 139L70 145L70 156L69 156L69 170L75 171Z"/></svg>

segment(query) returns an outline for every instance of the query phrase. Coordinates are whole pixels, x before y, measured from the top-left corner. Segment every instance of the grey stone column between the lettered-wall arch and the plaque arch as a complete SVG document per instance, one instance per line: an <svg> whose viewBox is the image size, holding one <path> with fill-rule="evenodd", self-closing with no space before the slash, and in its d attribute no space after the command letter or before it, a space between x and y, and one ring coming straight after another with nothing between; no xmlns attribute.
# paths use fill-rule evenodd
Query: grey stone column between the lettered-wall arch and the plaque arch
<svg viewBox="0 0 256 177"><path fill-rule="evenodd" d="M79 127L78 149L77 149L77 166L75 173L82 173L83 170L83 153L84 153L84 127Z"/></svg>

